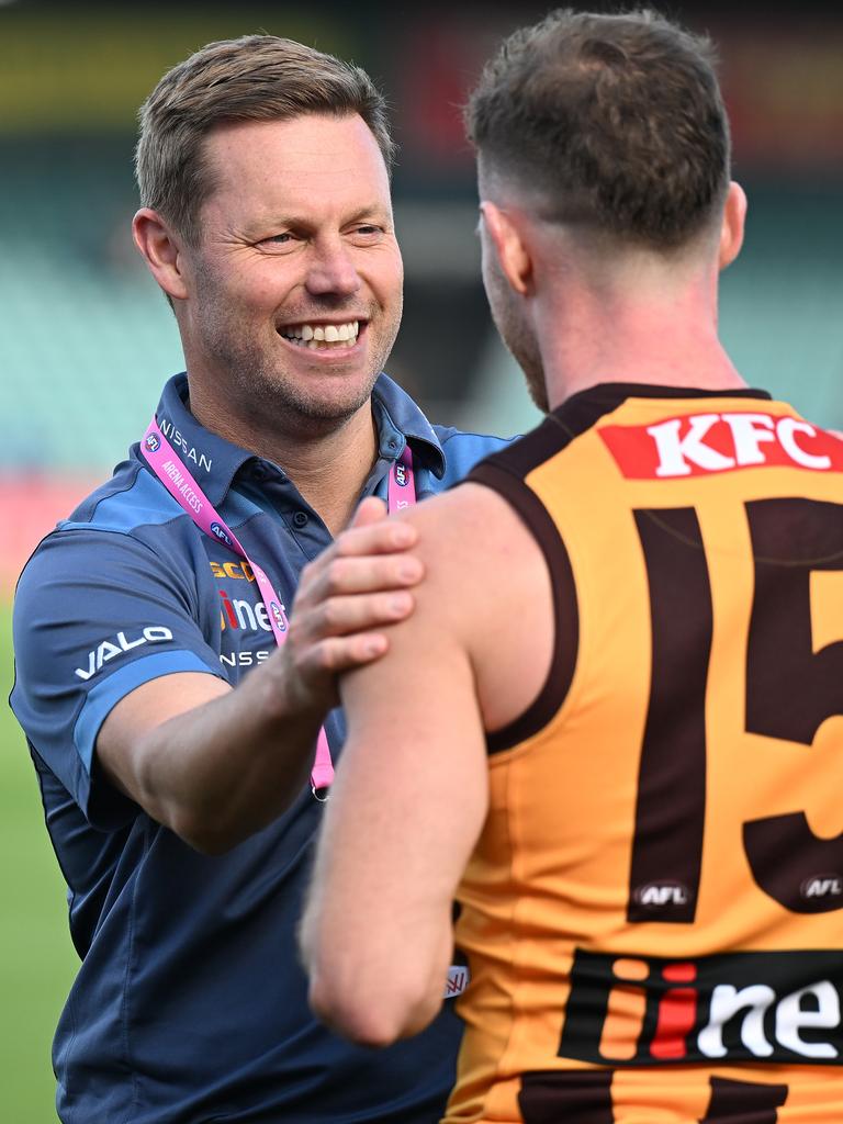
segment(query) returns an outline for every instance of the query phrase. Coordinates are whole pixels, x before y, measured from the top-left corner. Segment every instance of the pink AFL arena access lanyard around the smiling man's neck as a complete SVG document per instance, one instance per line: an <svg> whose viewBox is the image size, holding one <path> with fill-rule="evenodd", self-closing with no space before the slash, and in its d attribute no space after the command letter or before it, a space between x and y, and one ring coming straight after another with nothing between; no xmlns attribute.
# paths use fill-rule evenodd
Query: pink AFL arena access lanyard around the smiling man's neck
<svg viewBox="0 0 843 1124"><path fill-rule="evenodd" d="M152 471L173 499L188 513L197 527L239 554L252 568L263 604L266 606L275 643L280 647L287 640L288 619L284 606L273 589L272 582L261 566L246 554L235 533L217 513L190 474L190 470L179 460L155 418L152 419L149 428L144 434L140 452ZM409 445L405 445L401 455L392 462L389 473L388 509L400 511L405 507L411 507L415 502L416 482L413 471L413 453ZM317 800L327 799L327 796L323 794L330 788L333 780L334 765L330 760L328 737L323 726L316 741L316 759L314 770L310 773L310 787Z"/></svg>

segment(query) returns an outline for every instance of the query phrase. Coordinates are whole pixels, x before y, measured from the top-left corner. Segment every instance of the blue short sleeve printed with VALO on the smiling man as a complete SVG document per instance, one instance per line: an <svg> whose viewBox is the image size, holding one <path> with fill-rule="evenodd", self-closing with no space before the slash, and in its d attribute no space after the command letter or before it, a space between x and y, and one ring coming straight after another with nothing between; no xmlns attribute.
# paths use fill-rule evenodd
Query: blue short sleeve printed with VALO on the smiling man
<svg viewBox="0 0 843 1124"><path fill-rule="evenodd" d="M11 707L96 827L137 812L93 759L117 703L162 676L224 678L197 623L194 582L178 569L132 535L76 525L47 537L18 583Z"/></svg>

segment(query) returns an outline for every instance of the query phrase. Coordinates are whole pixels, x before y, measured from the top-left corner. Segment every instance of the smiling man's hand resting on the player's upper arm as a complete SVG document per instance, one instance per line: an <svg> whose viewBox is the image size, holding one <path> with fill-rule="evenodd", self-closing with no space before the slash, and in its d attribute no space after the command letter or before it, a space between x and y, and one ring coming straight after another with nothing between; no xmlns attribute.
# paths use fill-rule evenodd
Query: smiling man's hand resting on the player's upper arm
<svg viewBox="0 0 843 1124"><path fill-rule="evenodd" d="M413 613L410 589L424 568L408 551L418 533L386 514L382 500L363 500L347 528L302 571L279 656L297 711L324 715L337 706L337 673L383 655L389 641L379 629Z"/></svg>

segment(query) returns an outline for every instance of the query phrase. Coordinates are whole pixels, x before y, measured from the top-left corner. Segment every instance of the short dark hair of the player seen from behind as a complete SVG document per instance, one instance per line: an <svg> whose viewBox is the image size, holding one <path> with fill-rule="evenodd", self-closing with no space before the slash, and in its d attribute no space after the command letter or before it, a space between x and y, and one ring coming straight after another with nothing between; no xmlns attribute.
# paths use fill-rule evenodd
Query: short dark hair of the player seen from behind
<svg viewBox="0 0 843 1124"><path fill-rule="evenodd" d="M550 219L669 250L714 220L729 129L709 39L649 10L560 9L515 31L465 110L490 169Z"/></svg>

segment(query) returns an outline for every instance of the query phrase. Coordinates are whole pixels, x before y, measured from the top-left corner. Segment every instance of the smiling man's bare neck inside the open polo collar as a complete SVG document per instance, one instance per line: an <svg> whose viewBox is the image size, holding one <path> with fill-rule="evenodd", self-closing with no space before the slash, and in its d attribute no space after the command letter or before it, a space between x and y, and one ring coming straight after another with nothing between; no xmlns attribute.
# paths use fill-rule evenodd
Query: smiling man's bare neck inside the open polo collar
<svg viewBox="0 0 843 1124"><path fill-rule="evenodd" d="M206 429L283 469L332 535L347 524L378 450L371 402L338 424L303 422L284 432L199 396L191 395L190 409Z"/></svg>

